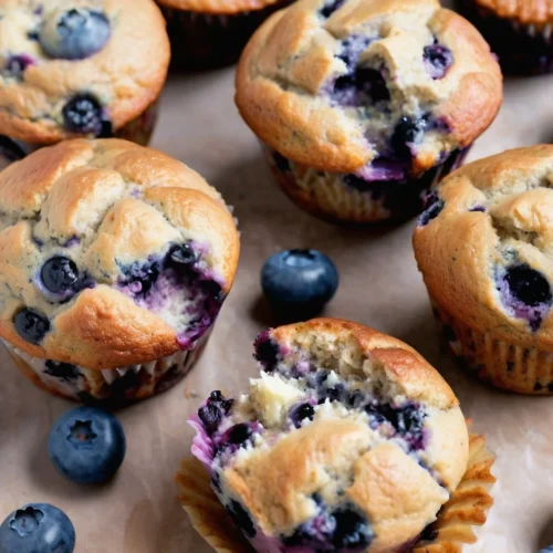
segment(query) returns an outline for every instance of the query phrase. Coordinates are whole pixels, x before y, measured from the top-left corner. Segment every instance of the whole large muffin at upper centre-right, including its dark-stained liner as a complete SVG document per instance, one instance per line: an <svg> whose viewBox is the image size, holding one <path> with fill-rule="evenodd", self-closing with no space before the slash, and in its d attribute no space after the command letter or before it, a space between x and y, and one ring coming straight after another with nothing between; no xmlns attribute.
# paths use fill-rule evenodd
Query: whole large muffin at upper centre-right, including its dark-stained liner
<svg viewBox="0 0 553 553"><path fill-rule="evenodd" d="M300 0L255 32L236 100L298 205L371 222L420 210L495 117L502 77L436 0Z"/></svg>

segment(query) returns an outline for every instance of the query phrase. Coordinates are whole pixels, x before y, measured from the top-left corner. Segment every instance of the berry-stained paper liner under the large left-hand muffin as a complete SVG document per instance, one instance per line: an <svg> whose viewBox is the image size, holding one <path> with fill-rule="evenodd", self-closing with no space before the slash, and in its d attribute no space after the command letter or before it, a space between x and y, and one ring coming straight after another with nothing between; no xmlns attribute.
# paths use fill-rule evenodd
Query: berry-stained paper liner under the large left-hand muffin
<svg viewBox="0 0 553 553"><path fill-rule="evenodd" d="M20 371L40 388L76 401L119 404L146 399L178 383L199 358L209 332L191 349L142 365L105 371L32 357L2 342Z"/></svg>

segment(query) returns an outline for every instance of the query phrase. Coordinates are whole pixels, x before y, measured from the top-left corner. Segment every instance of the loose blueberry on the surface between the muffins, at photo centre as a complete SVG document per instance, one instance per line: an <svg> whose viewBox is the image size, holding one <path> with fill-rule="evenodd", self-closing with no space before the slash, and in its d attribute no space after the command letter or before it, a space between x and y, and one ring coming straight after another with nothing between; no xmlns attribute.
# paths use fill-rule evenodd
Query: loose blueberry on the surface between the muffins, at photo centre
<svg viewBox="0 0 553 553"><path fill-rule="evenodd" d="M286 250L265 261L261 285L275 312L307 319L335 294L338 273L331 259L316 250Z"/></svg>

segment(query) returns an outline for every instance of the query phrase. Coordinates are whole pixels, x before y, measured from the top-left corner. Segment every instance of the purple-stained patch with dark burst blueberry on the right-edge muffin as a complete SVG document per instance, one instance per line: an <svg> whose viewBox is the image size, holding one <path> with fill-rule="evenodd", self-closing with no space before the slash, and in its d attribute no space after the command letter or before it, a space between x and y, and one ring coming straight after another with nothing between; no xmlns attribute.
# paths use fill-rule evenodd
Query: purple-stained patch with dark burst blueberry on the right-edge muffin
<svg viewBox="0 0 553 553"><path fill-rule="evenodd" d="M509 315L526 320L533 332L540 328L553 299L551 285L541 272L526 263L498 268L495 289Z"/></svg>

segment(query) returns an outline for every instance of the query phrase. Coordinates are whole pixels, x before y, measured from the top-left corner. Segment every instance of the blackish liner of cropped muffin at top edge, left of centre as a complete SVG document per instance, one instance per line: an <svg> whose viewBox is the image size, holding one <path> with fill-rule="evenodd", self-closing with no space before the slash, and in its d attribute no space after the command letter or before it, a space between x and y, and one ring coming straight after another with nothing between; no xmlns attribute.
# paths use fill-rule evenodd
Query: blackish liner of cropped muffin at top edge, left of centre
<svg viewBox="0 0 553 553"><path fill-rule="evenodd" d="M255 11L201 13L160 6L167 20L175 69L202 70L236 63L255 29L273 12L291 3L278 0Z"/></svg>

